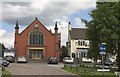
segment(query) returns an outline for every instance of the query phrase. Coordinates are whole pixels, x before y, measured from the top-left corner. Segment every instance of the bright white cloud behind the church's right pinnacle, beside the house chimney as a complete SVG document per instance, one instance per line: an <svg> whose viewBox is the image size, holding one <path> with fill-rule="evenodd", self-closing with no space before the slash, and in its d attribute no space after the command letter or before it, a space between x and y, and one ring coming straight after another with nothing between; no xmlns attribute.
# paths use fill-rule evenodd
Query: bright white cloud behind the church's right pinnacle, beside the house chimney
<svg viewBox="0 0 120 77"><path fill-rule="evenodd" d="M55 32L55 22L57 21L57 27L58 32L61 33L61 45L66 45L66 42L68 41L68 17L63 16L61 19L55 19L54 20L54 26L47 26L47 29L52 31L52 33Z"/></svg>

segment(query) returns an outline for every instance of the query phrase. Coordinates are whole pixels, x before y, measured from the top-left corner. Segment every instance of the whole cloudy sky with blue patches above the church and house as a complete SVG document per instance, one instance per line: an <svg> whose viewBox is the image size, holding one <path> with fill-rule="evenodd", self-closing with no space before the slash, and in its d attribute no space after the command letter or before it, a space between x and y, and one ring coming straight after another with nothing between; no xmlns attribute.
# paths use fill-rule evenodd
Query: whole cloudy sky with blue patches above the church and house
<svg viewBox="0 0 120 77"><path fill-rule="evenodd" d="M14 47L14 27L19 21L20 32L37 17L48 29L54 32L54 23L58 22L61 32L61 45L65 45L68 35L68 22L72 28L86 28L81 19L91 20L89 13L95 9L94 0L15 0L0 2L0 42L7 48Z"/></svg>

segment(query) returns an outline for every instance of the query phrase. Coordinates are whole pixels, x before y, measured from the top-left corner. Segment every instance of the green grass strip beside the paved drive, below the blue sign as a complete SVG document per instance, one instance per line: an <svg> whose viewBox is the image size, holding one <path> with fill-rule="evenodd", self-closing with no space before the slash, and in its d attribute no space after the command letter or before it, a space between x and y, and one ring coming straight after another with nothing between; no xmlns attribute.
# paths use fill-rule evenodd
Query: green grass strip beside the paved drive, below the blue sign
<svg viewBox="0 0 120 77"><path fill-rule="evenodd" d="M80 75L81 77L103 77L102 72L98 72L97 69L101 68L95 68L95 67L85 67L85 66L79 66L78 68L76 67L71 67L71 66L65 66L62 69ZM116 77L114 74L115 69L110 69L111 71L109 72L104 72L104 77Z"/></svg>

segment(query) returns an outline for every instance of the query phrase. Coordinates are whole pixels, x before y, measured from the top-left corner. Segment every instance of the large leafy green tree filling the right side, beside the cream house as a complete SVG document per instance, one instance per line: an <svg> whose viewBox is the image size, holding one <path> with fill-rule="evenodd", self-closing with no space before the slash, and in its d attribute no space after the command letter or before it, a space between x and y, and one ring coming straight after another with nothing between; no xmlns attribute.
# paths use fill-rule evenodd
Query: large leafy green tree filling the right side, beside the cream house
<svg viewBox="0 0 120 77"><path fill-rule="evenodd" d="M83 22L87 27L90 40L88 57L97 60L99 45L106 43L107 53L117 53L118 71L120 71L120 2L97 2L96 9L90 12L92 20Z"/></svg>

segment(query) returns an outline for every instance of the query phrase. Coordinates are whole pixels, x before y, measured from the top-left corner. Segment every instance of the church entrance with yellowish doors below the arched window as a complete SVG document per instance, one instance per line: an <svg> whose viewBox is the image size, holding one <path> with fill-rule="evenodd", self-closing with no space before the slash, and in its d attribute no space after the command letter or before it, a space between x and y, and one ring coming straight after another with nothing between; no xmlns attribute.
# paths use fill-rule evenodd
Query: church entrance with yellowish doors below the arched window
<svg viewBox="0 0 120 77"><path fill-rule="evenodd" d="M29 49L29 58L43 59L43 49Z"/></svg>

